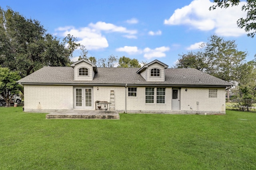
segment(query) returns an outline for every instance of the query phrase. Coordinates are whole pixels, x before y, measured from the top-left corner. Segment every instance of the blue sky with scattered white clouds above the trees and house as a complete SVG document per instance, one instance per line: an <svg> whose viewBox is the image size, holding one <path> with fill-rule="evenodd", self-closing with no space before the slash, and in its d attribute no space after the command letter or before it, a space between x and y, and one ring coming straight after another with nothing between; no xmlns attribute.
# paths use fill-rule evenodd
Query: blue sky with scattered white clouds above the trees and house
<svg viewBox="0 0 256 170"><path fill-rule="evenodd" d="M40 21L60 39L74 35L89 57L158 59L170 67L178 54L198 49L212 34L236 40L238 50L248 52L246 60L254 59L256 37L236 25L246 16L243 3L214 11L208 10L210 0L1 0L0 6Z"/></svg>

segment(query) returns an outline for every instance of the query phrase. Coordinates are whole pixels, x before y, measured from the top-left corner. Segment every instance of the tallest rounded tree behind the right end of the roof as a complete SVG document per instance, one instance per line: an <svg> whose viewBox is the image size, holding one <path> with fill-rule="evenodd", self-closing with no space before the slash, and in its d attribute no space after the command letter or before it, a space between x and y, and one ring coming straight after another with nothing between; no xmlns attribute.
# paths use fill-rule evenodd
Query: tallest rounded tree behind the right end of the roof
<svg viewBox="0 0 256 170"><path fill-rule="evenodd" d="M203 47L205 72L228 82L238 81L237 70L244 64L247 53L238 51L235 40L212 35Z"/></svg>

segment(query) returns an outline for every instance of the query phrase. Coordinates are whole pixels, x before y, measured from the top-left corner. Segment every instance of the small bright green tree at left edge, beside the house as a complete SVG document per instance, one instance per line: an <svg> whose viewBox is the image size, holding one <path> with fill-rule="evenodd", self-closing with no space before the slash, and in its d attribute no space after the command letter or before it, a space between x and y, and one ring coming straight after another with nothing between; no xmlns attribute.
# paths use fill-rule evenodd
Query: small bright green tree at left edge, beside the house
<svg viewBox="0 0 256 170"><path fill-rule="evenodd" d="M18 80L20 80L20 76L17 72L0 67L0 94L6 102L6 106L10 106L12 97L18 94L22 88L16 83Z"/></svg>

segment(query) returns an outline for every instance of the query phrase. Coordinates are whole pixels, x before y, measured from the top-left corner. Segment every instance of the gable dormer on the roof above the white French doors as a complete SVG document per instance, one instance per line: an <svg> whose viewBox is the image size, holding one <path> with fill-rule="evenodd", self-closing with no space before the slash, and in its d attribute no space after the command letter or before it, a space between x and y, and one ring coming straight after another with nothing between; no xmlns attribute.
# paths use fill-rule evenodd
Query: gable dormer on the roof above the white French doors
<svg viewBox="0 0 256 170"><path fill-rule="evenodd" d="M74 80L77 81L92 81L98 72L96 65L86 59L78 60L71 66L74 68Z"/></svg>

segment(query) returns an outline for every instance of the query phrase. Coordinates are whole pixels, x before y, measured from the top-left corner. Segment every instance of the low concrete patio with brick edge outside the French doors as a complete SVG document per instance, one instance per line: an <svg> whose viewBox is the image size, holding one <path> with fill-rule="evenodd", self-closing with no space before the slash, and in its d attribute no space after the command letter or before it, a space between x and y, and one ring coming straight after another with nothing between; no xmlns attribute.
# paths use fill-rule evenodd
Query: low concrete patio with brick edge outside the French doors
<svg viewBox="0 0 256 170"><path fill-rule="evenodd" d="M46 115L46 119L120 119L116 110L65 109Z"/></svg>

